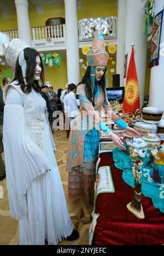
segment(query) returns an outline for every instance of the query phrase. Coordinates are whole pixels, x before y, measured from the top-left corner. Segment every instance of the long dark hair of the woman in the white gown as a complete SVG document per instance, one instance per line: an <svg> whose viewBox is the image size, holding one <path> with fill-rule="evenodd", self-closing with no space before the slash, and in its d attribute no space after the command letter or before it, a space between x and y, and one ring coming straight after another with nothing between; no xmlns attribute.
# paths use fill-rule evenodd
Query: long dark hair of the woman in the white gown
<svg viewBox="0 0 164 256"><path fill-rule="evenodd" d="M19 60L17 58L16 67L15 67L15 75L13 81L17 80L20 84L20 87L24 93L30 93L31 88L33 87L36 92L40 92L40 86L44 84L44 67L42 63L42 58L37 52L37 50L33 48L26 48L24 49L25 60L27 63L27 70L26 70L26 81L27 84L24 82L24 78L22 76L21 66L19 65ZM40 67L42 68L42 72L40 73L40 86L38 81L34 80L34 76L36 73L36 58L39 56L40 58Z"/></svg>

